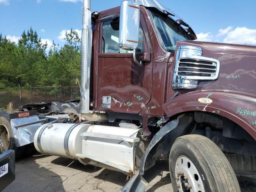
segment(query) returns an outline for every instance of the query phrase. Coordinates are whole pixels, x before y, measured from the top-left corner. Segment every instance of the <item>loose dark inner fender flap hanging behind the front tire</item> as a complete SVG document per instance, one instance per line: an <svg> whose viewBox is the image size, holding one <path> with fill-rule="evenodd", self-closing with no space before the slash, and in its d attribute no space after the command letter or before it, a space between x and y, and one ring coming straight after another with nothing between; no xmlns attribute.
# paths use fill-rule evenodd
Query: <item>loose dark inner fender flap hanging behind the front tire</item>
<svg viewBox="0 0 256 192"><path fill-rule="evenodd" d="M191 127L193 118L191 116L179 116L168 122L152 138L148 148L140 161L140 171L129 180L122 188L122 192L144 192L148 183L144 180L144 171L156 163L159 156L168 157L170 148L177 137L187 132Z"/></svg>

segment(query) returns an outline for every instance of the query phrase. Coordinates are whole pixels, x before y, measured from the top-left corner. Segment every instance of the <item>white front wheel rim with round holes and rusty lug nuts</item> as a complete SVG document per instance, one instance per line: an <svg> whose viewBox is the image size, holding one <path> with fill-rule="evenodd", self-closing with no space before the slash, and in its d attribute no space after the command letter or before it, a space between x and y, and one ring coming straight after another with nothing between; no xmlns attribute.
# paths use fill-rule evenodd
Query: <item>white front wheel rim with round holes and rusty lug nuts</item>
<svg viewBox="0 0 256 192"><path fill-rule="evenodd" d="M180 156L176 160L175 177L179 192L205 192L203 180L188 157Z"/></svg>

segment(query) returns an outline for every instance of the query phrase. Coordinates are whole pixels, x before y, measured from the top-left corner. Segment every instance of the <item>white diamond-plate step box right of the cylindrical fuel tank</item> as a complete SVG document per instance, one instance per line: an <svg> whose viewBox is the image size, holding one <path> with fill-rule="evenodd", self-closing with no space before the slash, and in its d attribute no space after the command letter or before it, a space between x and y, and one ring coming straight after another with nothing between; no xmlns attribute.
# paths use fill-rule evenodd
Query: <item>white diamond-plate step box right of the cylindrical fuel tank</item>
<svg viewBox="0 0 256 192"><path fill-rule="evenodd" d="M130 128L112 127L112 126L90 126L87 132L95 132L101 134L109 134L110 136L124 136L136 138L138 130ZM83 135L83 133L81 134ZM120 142L120 140L99 138L88 136L85 134L82 141L82 154L90 156L93 160L101 160L101 163L107 164L112 162L113 165L119 165L127 168L127 170L134 171L135 169L135 148L136 144L129 142ZM97 134L92 134L96 136ZM118 168L116 166L115 168ZM126 170L126 171L127 171Z"/></svg>

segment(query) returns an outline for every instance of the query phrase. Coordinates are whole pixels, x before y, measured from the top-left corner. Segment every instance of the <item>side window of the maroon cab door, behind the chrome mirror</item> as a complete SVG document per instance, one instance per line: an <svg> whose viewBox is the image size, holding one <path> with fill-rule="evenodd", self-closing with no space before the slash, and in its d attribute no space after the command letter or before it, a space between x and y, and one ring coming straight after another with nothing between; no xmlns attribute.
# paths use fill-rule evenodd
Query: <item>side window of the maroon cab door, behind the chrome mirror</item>
<svg viewBox="0 0 256 192"><path fill-rule="evenodd" d="M144 34L140 24L139 42L136 52L143 52ZM103 23L102 26L102 53L132 53L119 47L119 18Z"/></svg>

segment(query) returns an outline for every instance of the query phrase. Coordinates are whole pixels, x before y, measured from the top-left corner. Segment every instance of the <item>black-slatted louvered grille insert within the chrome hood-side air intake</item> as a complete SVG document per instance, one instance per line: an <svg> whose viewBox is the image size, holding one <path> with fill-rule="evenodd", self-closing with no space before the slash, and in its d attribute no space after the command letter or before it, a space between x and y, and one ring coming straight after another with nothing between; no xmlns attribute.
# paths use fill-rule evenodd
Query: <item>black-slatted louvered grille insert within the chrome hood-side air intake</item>
<svg viewBox="0 0 256 192"><path fill-rule="evenodd" d="M216 70L216 62L187 58L178 60L177 74L179 76L214 77Z"/></svg>

